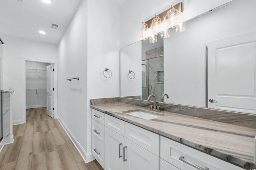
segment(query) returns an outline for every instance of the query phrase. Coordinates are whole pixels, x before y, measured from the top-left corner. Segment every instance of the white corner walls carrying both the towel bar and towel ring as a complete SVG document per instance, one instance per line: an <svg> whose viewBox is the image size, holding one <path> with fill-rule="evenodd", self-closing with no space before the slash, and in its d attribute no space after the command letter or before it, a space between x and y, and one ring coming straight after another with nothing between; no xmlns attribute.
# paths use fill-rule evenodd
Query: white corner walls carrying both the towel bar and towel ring
<svg viewBox="0 0 256 170"><path fill-rule="evenodd" d="M119 7L108 0L82 0L59 43L58 117L86 162L93 159L89 100L118 96L118 49ZM112 71L111 78L104 78L104 68ZM80 80L66 80L73 77Z"/></svg>

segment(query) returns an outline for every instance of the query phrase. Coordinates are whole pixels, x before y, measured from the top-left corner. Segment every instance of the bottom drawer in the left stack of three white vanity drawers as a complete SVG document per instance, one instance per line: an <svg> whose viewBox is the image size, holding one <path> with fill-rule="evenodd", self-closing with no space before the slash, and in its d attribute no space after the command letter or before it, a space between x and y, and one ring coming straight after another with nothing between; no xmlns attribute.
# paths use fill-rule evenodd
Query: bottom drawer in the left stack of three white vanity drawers
<svg viewBox="0 0 256 170"><path fill-rule="evenodd" d="M92 155L105 169L105 148L92 137Z"/></svg>

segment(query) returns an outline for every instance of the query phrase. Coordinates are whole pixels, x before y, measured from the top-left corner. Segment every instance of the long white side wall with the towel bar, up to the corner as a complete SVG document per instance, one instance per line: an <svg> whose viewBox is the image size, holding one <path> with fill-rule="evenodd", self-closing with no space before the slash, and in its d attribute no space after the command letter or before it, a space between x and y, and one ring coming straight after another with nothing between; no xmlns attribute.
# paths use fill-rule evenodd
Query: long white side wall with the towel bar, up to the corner
<svg viewBox="0 0 256 170"><path fill-rule="evenodd" d="M87 0L82 0L58 45L58 118L84 150L87 143L86 110L88 106L87 7ZM67 81L74 77L79 77L79 81ZM80 92L79 86L81 86L82 92Z"/></svg>

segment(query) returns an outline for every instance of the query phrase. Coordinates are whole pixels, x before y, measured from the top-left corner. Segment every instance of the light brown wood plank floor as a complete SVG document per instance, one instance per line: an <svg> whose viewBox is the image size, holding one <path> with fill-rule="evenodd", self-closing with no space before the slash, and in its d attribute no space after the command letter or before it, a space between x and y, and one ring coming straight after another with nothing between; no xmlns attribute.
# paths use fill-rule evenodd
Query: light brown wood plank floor
<svg viewBox="0 0 256 170"><path fill-rule="evenodd" d="M85 164L57 119L46 108L26 109L26 123L13 126L14 143L0 153L0 170L103 170Z"/></svg>

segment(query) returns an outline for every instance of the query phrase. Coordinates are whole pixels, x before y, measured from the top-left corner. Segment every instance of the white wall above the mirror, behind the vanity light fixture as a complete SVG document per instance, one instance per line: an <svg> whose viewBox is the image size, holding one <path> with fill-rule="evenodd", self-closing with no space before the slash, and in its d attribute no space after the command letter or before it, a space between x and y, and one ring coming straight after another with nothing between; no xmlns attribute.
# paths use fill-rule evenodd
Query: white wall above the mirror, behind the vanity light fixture
<svg viewBox="0 0 256 170"><path fill-rule="evenodd" d="M182 2L184 12L178 21L186 21L231 0L127 0L120 7L120 48L140 40L142 22Z"/></svg>

